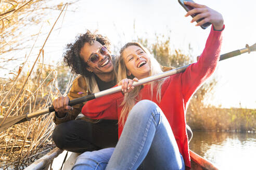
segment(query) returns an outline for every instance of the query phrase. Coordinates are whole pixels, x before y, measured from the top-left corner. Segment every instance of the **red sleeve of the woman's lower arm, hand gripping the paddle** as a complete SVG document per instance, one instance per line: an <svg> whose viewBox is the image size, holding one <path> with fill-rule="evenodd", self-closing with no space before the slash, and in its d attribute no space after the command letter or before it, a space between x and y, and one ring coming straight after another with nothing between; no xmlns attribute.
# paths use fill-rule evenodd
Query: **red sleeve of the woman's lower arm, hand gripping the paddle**
<svg viewBox="0 0 256 170"><path fill-rule="evenodd" d="M88 101L82 114L92 119L118 119L117 100L122 97L123 94L118 92Z"/></svg>

